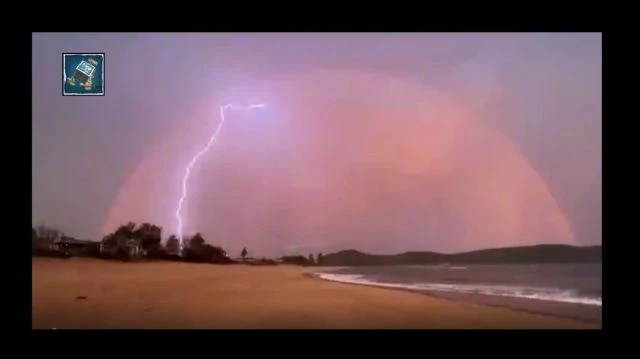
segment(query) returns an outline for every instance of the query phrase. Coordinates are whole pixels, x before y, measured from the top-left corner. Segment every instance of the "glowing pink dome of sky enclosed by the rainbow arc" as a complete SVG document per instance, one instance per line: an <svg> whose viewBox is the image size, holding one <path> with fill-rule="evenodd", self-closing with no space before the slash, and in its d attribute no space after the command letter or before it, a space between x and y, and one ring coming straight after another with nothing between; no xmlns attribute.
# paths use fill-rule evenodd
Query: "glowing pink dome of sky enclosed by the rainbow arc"
<svg viewBox="0 0 640 359"><path fill-rule="evenodd" d="M366 73L315 71L254 83L198 162L187 233L232 251L297 247L390 253L575 243L544 181L464 101ZM217 125L215 101L153 149L104 230L137 219L175 229L176 167ZM211 106L211 108L208 108ZM208 121L203 119L208 118ZM179 134L179 135L178 135ZM172 143L175 142L175 143ZM187 155L185 155L187 156ZM150 179L153 185L150 186Z"/></svg>

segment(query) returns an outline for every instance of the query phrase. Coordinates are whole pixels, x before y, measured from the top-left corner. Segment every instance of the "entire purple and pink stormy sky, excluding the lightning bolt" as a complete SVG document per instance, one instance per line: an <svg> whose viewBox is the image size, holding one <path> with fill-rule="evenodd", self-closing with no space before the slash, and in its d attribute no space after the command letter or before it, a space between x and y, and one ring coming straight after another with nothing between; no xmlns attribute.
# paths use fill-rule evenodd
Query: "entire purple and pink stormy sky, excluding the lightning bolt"
<svg viewBox="0 0 640 359"><path fill-rule="evenodd" d="M106 96L61 96L61 54ZM129 220L239 251L602 242L600 34L34 34L32 222Z"/></svg>

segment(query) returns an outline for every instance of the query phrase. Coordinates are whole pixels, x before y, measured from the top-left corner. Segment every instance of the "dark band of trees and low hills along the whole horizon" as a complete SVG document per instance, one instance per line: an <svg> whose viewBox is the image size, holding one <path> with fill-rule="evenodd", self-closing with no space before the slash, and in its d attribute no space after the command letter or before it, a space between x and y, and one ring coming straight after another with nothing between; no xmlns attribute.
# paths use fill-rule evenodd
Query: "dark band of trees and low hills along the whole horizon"
<svg viewBox="0 0 640 359"><path fill-rule="evenodd" d="M435 264L511 264L511 263L600 263L602 246L576 247L568 245L538 245L485 249L479 251L442 254L436 252L406 252L394 255L375 255L345 250L323 255L291 255L278 260L251 258L243 248L240 258L232 260L224 249L208 244L200 233L183 238L183 246L175 235L162 244L162 227L150 223L133 222L118 227L101 241L78 240L61 231L40 225L31 229L33 256L99 257L115 260L174 260L196 263L246 263L250 265L376 266L376 265L435 265Z"/></svg>

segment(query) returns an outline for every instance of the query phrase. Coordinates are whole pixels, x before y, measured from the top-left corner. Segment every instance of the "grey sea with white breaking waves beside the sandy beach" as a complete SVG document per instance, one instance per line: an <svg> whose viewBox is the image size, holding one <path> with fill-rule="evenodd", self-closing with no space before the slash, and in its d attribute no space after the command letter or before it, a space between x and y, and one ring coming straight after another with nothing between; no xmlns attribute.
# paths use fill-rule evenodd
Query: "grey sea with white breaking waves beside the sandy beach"
<svg viewBox="0 0 640 359"><path fill-rule="evenodd" d="M322 279L602 322L602 264L342 267Z"/></svg>

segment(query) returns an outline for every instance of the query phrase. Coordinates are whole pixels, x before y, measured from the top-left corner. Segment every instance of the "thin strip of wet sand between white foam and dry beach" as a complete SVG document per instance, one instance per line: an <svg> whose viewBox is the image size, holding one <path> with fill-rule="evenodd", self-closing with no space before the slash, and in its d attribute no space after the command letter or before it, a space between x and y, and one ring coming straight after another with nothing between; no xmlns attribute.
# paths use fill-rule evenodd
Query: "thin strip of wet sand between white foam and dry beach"
<svg viewBox="0 0 640 359"><path fill-rule="evenodd" d="M562 303L549 300L516 298L507 296L494 296L486 294L467 294L434 290L420 290L402 287L388 287L384 285L376 285L375 283L356 283L346 281L336 281L320 277L322 272L309 272L303 275L321 281L357 285L369 288L388 289L392 291L401 291L407 293L415 293L425 295L431 298L442 299L447 301L455 301L459 303L479 304L496 308L514 310L521 313L540 314L556 317L559 319L576 320L589 325L602 326L602 307L592 306L579 303Z"/></svg>

